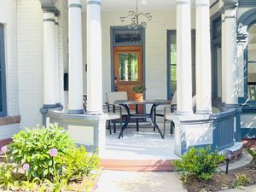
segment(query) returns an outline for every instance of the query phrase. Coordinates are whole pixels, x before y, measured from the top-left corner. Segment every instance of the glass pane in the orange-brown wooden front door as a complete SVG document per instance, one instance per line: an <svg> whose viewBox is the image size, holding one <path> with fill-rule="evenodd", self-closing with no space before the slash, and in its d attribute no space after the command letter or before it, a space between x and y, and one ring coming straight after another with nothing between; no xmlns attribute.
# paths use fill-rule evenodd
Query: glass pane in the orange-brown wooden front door
<svg viewBox="0 0 256 192"><path fill-rule="evenodd" d="M119 54L119 81L138 81L137 53Z"/></svg>

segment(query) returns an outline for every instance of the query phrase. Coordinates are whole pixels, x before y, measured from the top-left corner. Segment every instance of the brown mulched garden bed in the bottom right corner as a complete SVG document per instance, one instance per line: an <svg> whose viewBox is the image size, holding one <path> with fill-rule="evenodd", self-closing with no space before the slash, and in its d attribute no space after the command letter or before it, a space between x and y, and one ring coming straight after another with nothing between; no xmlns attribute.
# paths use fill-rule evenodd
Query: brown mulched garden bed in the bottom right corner
<svg viewBox="0 0 256 192"><path fill-rule="evenodd" d="M236 170L231 170L228 174L218 172L208 181L190 176L184 184L188 192L213 192L241 188L254 183L256 183L256 166L251 163Z"/></svg>

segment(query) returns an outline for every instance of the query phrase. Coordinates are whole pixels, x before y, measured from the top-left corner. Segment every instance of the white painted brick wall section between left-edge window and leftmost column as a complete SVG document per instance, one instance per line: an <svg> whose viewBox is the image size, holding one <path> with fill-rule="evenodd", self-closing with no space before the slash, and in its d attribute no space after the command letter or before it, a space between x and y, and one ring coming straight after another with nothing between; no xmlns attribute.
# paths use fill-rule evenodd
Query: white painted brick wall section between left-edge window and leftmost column
<svg viewBox="0 0 256 192"><path fill-rule="evenodd" d="M17 0L20 128L42 122L43 12L38 0Z"/></svg>

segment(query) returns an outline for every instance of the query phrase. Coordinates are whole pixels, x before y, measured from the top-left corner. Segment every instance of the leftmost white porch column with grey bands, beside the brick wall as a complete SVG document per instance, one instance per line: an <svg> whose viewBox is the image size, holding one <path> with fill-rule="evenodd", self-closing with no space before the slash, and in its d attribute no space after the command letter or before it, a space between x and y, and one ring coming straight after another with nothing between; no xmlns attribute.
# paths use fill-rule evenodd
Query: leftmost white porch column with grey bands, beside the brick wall
<svg viewBox="0 0 256 192"><path fill-rule="evenodd" d="M55 11L44 11L44 108L55 108Z"/></svg>

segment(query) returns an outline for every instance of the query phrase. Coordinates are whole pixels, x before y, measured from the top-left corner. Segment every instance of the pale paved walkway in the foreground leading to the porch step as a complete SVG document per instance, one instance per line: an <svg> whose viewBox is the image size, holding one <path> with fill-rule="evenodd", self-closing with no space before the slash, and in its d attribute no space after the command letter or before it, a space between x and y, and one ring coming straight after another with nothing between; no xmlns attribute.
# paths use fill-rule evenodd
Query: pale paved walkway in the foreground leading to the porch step
<svg viewBox="0 0 256 192"><path fill-rule="evenodd" d="M187 192L177 172L103 171L96 192Z"/></svg>

